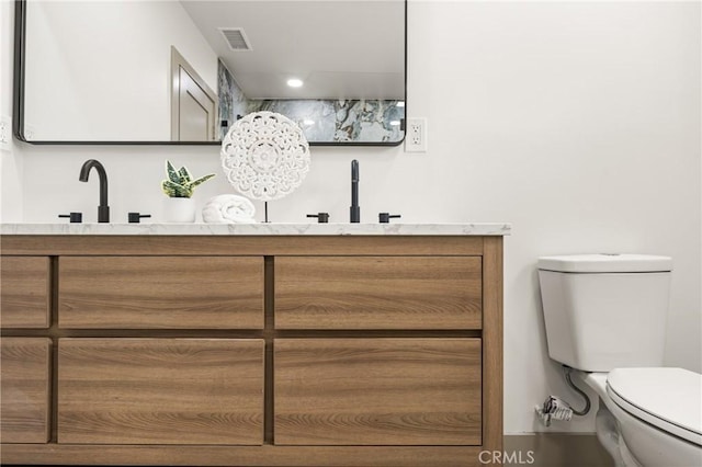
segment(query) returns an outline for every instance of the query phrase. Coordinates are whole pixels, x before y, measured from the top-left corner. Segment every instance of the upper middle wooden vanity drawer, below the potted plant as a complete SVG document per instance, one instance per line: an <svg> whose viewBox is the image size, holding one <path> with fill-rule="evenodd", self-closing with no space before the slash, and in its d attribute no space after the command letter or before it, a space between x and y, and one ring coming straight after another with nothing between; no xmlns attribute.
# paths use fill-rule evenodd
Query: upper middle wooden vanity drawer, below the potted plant
<svg viewBox="0 0 702 467"><path fill-rule="evenodd" d="M61 257L61 328L261 329L262 257Z"/></svg>

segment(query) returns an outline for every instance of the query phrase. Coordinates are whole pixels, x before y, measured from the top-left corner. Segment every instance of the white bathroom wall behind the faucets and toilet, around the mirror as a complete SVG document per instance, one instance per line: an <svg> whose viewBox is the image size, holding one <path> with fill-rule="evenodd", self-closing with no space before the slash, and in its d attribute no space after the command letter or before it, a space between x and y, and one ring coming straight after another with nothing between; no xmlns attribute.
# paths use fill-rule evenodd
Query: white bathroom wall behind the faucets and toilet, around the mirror
<svg viewBox="0 0 702 467"><path fill-rule="evenodd" d="M2 26L9 22L3 18ZM579 405L546 356L540 255L671 255L667 362L700 372L700 35L699 2L412 0L407 111L429 118L429 151L315 147L307 180L271 203L271 218L306 221L305 214L326 210L333 221L348 220L355 158L363 221L376 221L381 210L406 223L511 221L507 433L545 430L533 406L548 394ZM94 221L97 180L78 182L91 157L107 169L114 220L128 210L160 213L166 158L195 175L219 173L197 189L201 204L230 191L216 147L23 145L22 152L26 221L53 221L68 210ZM4 195L18 195L8 186L3 180ZM589 417L550 430L595 425Z"/></svg>

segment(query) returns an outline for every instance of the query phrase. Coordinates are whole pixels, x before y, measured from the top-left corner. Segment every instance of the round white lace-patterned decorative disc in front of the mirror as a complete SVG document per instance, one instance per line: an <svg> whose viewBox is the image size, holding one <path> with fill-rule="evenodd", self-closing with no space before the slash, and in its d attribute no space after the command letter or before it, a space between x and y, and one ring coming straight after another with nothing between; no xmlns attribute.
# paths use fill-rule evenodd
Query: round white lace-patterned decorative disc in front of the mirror
<svg viewBox="0 0 702 467"><path fill-rule="evenodd" d="M222 141L220 153L231 186L253 200L291 194L309 171L309 144L302 128L274 112L238 119Z"/></svg>

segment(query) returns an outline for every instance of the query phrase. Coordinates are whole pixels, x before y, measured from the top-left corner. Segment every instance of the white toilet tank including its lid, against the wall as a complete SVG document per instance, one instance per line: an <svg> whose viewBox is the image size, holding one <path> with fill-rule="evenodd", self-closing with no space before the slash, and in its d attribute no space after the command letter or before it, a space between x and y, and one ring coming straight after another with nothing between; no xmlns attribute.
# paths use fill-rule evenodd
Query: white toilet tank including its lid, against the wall
<svg viewBox="0 0 702 467"><path fill-rule="evenodd" d="M548 356L586 372L663 366L671 271L648 254L540 258Z"/></svg>

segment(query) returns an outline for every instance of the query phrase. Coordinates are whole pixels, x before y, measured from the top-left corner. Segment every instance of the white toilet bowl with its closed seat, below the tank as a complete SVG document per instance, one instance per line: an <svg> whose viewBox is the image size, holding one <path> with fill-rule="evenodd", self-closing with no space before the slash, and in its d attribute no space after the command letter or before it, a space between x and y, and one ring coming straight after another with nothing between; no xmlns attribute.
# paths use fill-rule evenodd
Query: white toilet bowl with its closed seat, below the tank
<svg viewBox="0 0 702 467"><path fill-rule="evenodd" d="M616 368L577 375L600 398L596 432L620 466L702 466L702 375Z"/></svg>

